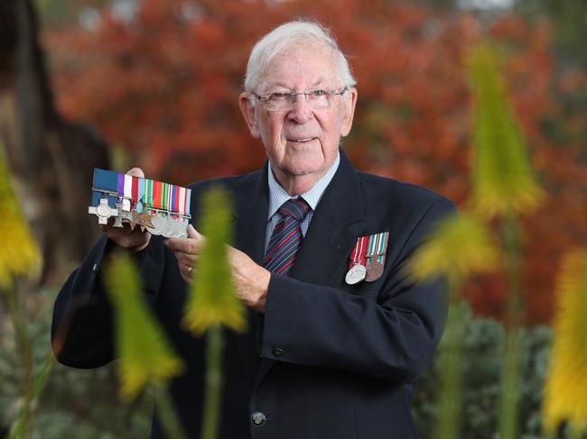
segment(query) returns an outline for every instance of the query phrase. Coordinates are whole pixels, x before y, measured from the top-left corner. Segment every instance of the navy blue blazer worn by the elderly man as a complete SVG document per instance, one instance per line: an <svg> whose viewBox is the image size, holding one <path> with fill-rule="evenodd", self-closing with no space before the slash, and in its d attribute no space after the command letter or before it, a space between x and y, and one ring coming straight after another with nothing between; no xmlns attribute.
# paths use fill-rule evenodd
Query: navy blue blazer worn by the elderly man
<svg viewBox="0 0 587 439"><path fill-rule="evenodd" d="M235 247L262 264L267 165L192 185L191 212L215 184L235 200ZM443 332L446 288L441 279L413 283L405 262L431 225L453 211L451 201L427 189L358 172L341 152L290 276L271 277L265 315L248 311L247 334L225 331L220 437L416 438L410 402ZM357 238L379 232L389 232L383 276L347 285ZM63 364L95 368L114 360L111 306L99 279L112 245L100 239L56 299L51 337ZM186 285L159 237L136 259L144 297L187 361L171 391L186 431L198 438L205 343L181 327ZM163 437L156 416L152 437Z"/></svg>

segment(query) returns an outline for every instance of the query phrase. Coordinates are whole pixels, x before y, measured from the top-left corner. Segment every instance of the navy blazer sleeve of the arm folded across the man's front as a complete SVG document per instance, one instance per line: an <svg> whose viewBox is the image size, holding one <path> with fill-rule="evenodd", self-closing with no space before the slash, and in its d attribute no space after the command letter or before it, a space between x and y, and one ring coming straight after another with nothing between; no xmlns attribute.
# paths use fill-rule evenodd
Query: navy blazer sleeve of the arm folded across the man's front
<svg viewBox="0 0 587 439"><path fill-rule="evenodd" d="M272 275L261 357L412 382L432 359L446 317L446 282L415 283L405 264L431 226L453 213L436 201L408 233L377 300Z"/></svg>

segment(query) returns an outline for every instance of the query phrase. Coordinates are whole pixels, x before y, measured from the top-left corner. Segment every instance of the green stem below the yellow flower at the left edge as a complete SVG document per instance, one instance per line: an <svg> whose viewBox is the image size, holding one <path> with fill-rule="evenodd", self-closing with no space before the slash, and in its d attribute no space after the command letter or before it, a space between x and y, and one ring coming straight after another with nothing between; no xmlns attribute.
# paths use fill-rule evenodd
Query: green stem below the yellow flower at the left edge
<svg viewBox="0 0 587 439"><path fill-rule="evenodd" d="M31 417L33 412L33 349L26 329L23 310L18 300L18 291L14 287L9 287L5 291L4 296L8 314L14 326L14 340L23 368L23 405L20 408L19 416L14 420L11 437L28 439L31 435Z"/></svg>

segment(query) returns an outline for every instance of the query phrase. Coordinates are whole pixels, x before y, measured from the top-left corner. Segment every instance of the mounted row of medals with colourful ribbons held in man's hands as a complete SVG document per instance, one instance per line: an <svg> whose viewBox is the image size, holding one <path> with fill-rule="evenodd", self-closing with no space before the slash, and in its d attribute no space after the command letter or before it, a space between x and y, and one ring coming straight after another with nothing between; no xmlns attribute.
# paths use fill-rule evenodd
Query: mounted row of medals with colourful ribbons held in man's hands
<svg viewBox="0 0 587 439"><path fill-rule="evenodd" d="M165 238L188 236L191 189L149 178L133 177L105 169L94 169L89 214L99 224L114 217L114 226L130 223Z"/></svg>

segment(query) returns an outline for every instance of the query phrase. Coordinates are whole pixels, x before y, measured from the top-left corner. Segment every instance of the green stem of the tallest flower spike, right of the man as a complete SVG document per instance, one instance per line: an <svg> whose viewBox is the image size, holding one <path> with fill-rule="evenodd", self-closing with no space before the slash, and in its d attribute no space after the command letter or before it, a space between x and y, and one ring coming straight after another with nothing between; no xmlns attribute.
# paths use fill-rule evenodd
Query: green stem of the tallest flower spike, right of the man
<svg viewBox="0 0 587 439"><path fill-rule="evenodd" d="M517 439L518 403L521 382L521 332L523 312L520 295L520 242L517 218L506 216L502 226L504 258L508 276L506 340L501 370L499 438Z"/></svg>

